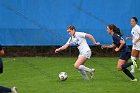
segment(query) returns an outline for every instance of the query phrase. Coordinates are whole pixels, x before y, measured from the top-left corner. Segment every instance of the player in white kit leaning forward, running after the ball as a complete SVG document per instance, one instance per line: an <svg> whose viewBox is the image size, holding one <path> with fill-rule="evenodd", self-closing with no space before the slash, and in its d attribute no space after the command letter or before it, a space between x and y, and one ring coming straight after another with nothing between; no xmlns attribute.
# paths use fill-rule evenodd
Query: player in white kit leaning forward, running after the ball
<svg viewBox="0 0 140 93"><path fill-rule="evenodd" d="M69 26L67 28L67 32L71 35L71 37L65 45L63 45L60 48L57 48L55 50L55 53L67 49L68 46L70 46L70 44L76 45L79 50L79 56L74 64L74 67L79 70L80 74L85 80L89 80L89 77L87 76L86 72L89 72L91 78L93 78L95 69L91 69L84 66L86 60L90 59L91 56L91 50L87 44L86 38L89 38L95 45L100 45L100 43L96 42L96 40L91 34L87 34L84 32L76 32L76 28L74 26Z"/></svg>

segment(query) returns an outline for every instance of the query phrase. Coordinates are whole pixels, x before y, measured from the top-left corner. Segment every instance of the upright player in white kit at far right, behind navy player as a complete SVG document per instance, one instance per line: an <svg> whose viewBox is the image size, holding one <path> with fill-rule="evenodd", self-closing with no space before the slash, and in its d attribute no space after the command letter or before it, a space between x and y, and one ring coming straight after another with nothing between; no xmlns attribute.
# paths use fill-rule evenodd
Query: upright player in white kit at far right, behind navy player
<svg viewBox="0 0 140 93"><path fill-rule="evenodd" d="M140 26L137 24L138 19L136 17L132 17L130 24L133 27L131 30L132 37L127 37L126 40L132 39L133 47L132 47L132 53L131 53L131 60L136 63L136 57L139 56L140 60ZM137 64L134 64L131 66L131 72L135 72L135 67L137 67Z"/></svg>

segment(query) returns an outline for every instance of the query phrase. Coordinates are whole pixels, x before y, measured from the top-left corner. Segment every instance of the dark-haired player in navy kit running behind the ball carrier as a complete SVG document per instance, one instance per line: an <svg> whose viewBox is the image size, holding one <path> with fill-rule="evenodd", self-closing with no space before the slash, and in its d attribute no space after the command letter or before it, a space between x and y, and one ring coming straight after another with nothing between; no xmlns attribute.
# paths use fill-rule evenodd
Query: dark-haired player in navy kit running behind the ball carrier
<svg viewBox="0 0 140 93"><path fill-rule="evenodd" d="M113 44L109 46L102 46L102 49L115 48L116 52L120 52L117 65L118 71L123 71L128 77L131 78L131 81L137 81L137 79L127 69L127 67L133 65L133 62L128 62L129 58L131 57L131 51L123 40L120 29L114 24L109 24L107 26L107 32L112 36Z"/></svg>

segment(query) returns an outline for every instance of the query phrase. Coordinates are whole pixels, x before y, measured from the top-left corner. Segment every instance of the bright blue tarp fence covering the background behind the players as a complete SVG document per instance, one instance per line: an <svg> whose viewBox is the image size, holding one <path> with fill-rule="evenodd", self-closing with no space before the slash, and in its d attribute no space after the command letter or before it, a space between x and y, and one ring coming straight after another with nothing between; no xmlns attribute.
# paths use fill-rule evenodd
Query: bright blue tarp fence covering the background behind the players
<svg viewBox="0 0 140 93"><path fill-rule="evenodd" d="M69 38L68 25L110 44L107 24L116 24L124 38L129 36L130 18L140 19L139 4L140 0L0 0L0 44L63 45Z"/></svg>

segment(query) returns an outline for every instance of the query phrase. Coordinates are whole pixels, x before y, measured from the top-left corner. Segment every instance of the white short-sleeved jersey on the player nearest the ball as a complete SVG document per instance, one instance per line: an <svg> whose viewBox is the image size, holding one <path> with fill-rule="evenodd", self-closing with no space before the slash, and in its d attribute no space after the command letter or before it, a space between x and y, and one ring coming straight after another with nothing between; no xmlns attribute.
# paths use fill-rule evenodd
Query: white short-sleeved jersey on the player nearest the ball
<svg viewBox="0 0 140 93"><path fill-rule="evenodd" d="M80 53L90 51L85 35L86 33L83 32L75 32L74 36L71 36L66 44L76 45Z"/></svg>

